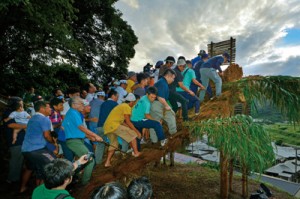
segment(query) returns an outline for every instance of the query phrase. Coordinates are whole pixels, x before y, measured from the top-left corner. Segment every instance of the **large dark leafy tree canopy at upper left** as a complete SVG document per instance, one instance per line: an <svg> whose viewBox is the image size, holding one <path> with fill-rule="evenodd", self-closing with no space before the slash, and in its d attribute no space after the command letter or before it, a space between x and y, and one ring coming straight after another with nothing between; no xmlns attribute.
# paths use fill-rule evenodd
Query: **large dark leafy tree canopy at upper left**
<svg viewBox="0 0 300 199"><path fill-rule="evenodd" d="M20 94L29 86L47 92L126 72L138 40L115 2L2 1L0 93Z"/></svg>

